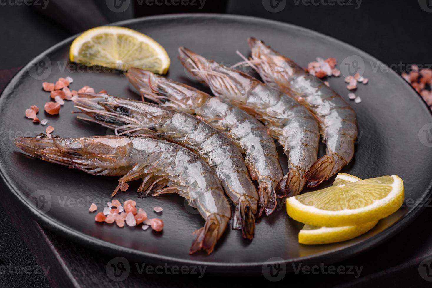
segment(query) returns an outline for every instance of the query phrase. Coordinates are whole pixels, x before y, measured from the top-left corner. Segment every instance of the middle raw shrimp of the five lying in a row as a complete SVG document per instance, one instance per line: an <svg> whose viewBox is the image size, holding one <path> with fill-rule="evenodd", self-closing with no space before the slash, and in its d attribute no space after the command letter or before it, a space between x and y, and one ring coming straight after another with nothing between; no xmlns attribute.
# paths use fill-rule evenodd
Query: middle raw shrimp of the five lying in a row
<svg viewBox="0 0 432 288"><path fill-rule="evenodd" d="M275 188L282 178L276 147L267 128L255 117L220 97L137 68L126 73L142 97L160 105L203 118L242 148L251 178L258 181L258 213L276 208ZM144 98L143 98L144 100Z"/></svg>

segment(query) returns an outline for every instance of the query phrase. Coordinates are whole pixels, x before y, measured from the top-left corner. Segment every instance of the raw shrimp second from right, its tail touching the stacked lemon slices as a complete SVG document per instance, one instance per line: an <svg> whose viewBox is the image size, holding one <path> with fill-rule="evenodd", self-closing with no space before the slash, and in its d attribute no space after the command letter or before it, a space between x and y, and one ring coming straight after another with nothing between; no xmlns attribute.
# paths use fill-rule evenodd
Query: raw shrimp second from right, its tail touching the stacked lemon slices
<svg viewBox="0 0 432 288"><path fill-rule="evenodd" d="M289 157L289 172L276 187L276 194L278 197L299 194L306 184L303 176L317 160L319 130L314 116L288 95L246 73L184 47L179 48L179 53L184 67L209 85L216 96L228 98L264 122Z"/></svg>

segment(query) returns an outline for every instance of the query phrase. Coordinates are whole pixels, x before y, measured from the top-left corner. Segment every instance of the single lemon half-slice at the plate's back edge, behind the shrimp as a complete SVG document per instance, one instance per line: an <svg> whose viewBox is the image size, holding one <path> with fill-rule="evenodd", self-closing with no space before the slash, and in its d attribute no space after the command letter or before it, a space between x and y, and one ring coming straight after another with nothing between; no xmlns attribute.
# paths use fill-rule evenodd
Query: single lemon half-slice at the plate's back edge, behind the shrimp
<svg viewBox="0 0 432 288"><path fill-rule="evenodd" d="M101 26L79 35L70 46L70 61L126 71L137 67L165 74L170 59L165 49L149 36L133 29Z"/></svg>

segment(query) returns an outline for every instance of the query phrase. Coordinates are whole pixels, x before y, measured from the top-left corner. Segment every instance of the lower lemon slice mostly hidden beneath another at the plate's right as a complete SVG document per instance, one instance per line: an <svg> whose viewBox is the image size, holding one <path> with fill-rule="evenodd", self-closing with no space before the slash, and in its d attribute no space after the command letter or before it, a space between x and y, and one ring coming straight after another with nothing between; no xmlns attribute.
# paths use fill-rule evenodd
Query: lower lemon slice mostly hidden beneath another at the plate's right
<svg viewBox="0 0 432 288"><path fill-rule="evenodd" d="M343 227L318 227L305 224L299 232L301 244L329 244L353 239L372 229L378 220Z"/></svg>

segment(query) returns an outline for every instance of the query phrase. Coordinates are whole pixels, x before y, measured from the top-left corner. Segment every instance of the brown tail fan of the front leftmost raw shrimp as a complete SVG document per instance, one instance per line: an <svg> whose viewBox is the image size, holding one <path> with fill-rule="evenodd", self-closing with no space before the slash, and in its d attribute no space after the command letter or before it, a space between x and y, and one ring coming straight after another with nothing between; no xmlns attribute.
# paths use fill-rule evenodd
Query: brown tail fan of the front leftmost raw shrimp
<svg viewBox="0 0 432 288"><path fill-rule="evenodd" d="M204 227L194 232L194 234L197 234L197 238L192 243L189 254L194 254L201 249L206 250L207 254L211 254L219 238L219 225L215 214L208 216Z"/></svg>

